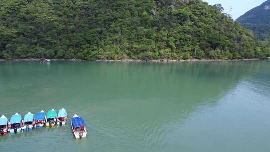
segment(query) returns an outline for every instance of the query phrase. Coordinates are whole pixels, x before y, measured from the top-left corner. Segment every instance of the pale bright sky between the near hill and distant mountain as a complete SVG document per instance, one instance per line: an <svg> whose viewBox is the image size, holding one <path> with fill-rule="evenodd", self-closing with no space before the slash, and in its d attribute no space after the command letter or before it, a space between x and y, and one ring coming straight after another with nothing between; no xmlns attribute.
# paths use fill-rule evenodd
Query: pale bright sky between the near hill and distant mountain
<svg viewBox="0 0 270 152"><path fill-rule="evenodd" d="M224 13L229 13L230 6L232 7L232 18L237 19L245 14L250 9L261 5L267 0L202 0L210 5L221 3L224 7Z"/></svg>

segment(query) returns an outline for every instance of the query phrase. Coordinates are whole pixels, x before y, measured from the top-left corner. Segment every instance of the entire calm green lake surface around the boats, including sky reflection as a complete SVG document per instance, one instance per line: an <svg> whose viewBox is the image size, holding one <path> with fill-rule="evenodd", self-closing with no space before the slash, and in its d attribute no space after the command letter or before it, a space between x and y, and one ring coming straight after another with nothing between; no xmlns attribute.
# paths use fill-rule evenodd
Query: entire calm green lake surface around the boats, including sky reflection
<svg viewBox="0 0 270 152"><path fill-rule="evenodd" d="M66 126L0 136L0 151L269 151L269 92L270 61L0 62L0 114L68 113Z"/></svg>

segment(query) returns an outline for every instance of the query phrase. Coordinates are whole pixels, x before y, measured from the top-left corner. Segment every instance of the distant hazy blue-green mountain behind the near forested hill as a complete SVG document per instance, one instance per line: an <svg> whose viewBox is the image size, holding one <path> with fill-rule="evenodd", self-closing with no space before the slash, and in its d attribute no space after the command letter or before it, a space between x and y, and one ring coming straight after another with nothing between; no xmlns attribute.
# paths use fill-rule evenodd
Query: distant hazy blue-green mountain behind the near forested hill
<svg viewBox="0 0 270 152"><path fill-rule="evenodd" d="M270 0L246 12L237 21L252 30L260 40L270 39Z"/></svg>

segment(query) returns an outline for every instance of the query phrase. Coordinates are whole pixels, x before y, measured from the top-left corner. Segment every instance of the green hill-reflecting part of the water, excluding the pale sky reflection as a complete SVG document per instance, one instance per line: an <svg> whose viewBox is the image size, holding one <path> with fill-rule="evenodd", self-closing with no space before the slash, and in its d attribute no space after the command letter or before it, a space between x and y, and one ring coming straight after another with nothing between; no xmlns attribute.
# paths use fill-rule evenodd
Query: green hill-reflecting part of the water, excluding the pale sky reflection
<svg viewBox="0 0 270 152"><path fill-rule="evenodd" d="M22 133L18 138L24 142L42 136L47 145L65 143L64 149L69 150L162 151L169 142L167 134L188 124L193 115L218 106L239 84L264 89L260 82L268 82L268 73L260 79L257 74L268 64L53 62L47 67L0 63L0 102L6 102L0 111L9 116L15 111L68 110L67 126ZM253 85L250 79L258 83ZM73 138L68 125L73 114L84 117L86 140ZM0 145L20 141L12 137L0 137Z"/></svg>

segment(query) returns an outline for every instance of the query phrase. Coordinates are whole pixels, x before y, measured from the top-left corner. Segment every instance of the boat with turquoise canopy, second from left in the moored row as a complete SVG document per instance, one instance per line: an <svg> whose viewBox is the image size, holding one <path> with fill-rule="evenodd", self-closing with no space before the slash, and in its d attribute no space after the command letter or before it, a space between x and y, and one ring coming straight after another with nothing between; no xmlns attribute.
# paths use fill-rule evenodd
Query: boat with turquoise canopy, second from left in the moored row
<svg viewBox="0 0 270 152"><path fill-rule="evenodd" d="M21 132L23 128L23 120L21 115L16 113L10 119L10 133Z"/></svg>

